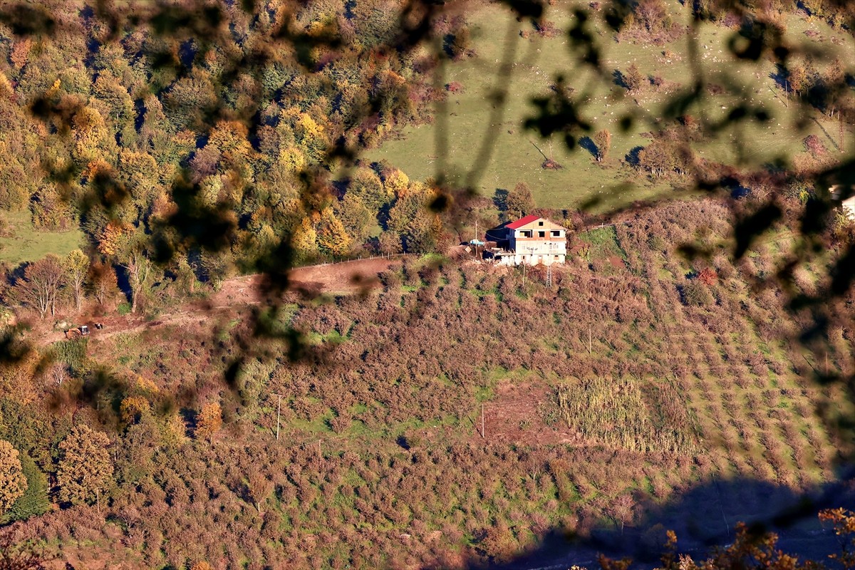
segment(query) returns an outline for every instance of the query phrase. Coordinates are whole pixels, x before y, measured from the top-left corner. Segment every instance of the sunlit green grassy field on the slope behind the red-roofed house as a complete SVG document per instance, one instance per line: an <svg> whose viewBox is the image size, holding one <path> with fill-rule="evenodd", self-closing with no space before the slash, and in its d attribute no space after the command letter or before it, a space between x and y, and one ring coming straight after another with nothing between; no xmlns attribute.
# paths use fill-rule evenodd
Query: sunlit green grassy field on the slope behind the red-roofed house
<svg viewBox="0 0 855 570"><path fill-rule="evenodd" d="M686 21L687 13L681 6L678 3L673 3L673 6L676 20ZM573 7L568 3L551 6L547 18L559 29L566 30ZM437 109L433 124L408 127L402 137L369 151L369 158L386 159L416 179L449 172L452 179L460 184L468 181L466 174L471 170L483 168L481 176L474 181L482 193L492 196L498 188L509 189L524 181L534 191L535 202L548 208L576 208L583 203L599 201L593 209L602 210L661 196L665 192L674 196L671 184L653 184L640 179L634 169L622 162L634 147L649 143L649 138L642 136L643 132L658 130L652 126L652 121L660 115L663 99L680 85L687 85L691 73L687 62L680 56L686 51L685 37L672 44L656 46L617 43L609 33L597 32L605 68L626 71L634 62L641 73L664 79L665 85L659 88L660 91L649 87L633 98L627 97L626 90L614 81L605 81L585 69L574 68L564 32L554 38L541 38L530 25L518 23L507 10L496 5L471 13L469 22L476 56L450 64L442 79L443 84L452 81L462 84L463 91L449 93L447 102ZM822 22L808 22L792 16L787 26L788 37L793 43L809 41L805 32L810 29L819 34L812 42L813 47L828 49L843 57L846 46L852 44L852 38L843 39L840 43L845 36ZM522 38L521 31L530 32L529 38ZM699 36L700 58L705 79L716 85L730 85L731 90L740 95L705 97L704 109L689 109L689 113L696 116L704 113L711 120L716 120L741 100L763 107L772 119L765 124L748 122L738 130L720 132L716 139L696 145L699 156L757 165L776 158L792 159L802 150L802 140L811 133L817 134L829 150L834 150L831 138L836 138L836 125L825 122L817 112L813 115L818 122L813 121L813 117L794 116L795 105L790 104L788 109L785 107L780 98L782 94L769 77L775 72L771 63L760 63L751 69L735 66L727 49L732 35L732 30L722 27L703 27ZM830 41L832 38L839 44ZM512 53L512 71L499 76L508 50ZM666 50L673 53L666 56ZM568 85L575 88L574 97L584 94L581 97L584 101L582 116L593 123L594 129L608 128L613 133L610 158L604 165L593 162L587 150L577 146L575 151L569 152L558 138L552 142L542 140L522 127L523 120L534 114L533 97L551 93L550 85L558 74L562 74ZM492 93L503 88L508 92L504 109L493 115L496 110ZM646 120L636 121L633 128L622 133L617 120L627 113L645 116ZM805 125L797 125L799 120L805 122L805 119ZM443 138L447 140L445 153L439 144ZM494 144L492 156L488 159L479 154L485 140ZM544 155L553 158L563 168L543 169Z"/></svg>

